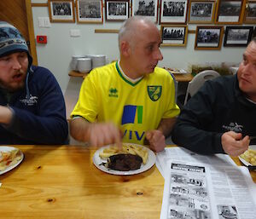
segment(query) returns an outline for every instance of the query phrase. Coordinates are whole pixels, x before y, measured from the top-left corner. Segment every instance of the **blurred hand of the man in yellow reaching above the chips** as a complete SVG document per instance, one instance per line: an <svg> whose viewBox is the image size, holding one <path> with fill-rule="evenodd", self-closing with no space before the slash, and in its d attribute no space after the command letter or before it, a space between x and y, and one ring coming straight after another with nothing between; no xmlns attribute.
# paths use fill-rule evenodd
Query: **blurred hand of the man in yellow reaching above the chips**
<svg viewBox="0 0 256 219"><path fill-rule="evenodd" d="M92 146L102 147L115 143L117 147L122 148L121 132L112 123L90 124L89 139Z"/></svg>

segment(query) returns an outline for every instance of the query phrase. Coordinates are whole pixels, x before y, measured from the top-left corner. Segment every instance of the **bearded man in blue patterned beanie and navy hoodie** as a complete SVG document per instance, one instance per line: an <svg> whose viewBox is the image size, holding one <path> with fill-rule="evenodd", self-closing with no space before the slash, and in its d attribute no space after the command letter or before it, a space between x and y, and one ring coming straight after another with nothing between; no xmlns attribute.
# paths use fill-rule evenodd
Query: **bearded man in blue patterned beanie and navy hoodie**
<svg viewBox="0 0 256 219"><path fill-rule="evenodd" d="M0 144L66 144L61 88L48 69L32 66L26 41L0 21Z"/></svg>

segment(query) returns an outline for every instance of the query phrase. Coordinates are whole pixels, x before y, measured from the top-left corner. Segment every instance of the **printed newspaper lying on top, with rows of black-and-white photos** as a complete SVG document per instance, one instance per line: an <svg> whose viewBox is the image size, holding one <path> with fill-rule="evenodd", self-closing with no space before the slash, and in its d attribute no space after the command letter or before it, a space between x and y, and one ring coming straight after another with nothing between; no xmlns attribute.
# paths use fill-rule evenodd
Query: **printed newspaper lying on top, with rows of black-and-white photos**
<svg viewBox="0 0 256 219"><path fill-rule="evenodd" d="M168 160L160 219L255 219L256 189L245 167Z"/></svg>

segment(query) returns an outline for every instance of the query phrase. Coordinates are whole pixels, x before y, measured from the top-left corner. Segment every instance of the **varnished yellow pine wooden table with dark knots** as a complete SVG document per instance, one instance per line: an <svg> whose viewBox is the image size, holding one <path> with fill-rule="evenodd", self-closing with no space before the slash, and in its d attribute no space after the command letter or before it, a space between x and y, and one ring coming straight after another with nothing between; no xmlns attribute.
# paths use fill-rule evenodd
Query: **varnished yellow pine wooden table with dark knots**
<svg viewBox="0 0 256 219"><path fill-rule="evenodd" d="M112 176L92 164L95 148L15 147L25 158L0 176L0 218L160 218L165 182L155 166L135 176ZM256 182L256 172L251 175Z"/></svg>

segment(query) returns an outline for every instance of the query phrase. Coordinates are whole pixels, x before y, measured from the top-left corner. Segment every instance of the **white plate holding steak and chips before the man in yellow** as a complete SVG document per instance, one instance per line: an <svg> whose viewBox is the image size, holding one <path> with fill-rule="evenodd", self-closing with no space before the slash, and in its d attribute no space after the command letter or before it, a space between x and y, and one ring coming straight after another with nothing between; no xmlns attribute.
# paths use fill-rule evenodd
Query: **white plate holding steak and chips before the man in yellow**
<svg viewBox="0 0 256 219"><path fill-rule="evenodd" d="M129 145L135 145L135 144L129 143ZM140 145L136 145L136 146L143 147L143 146L140 146ZM143 147L144 149L146 149L148 151L148 161L147 161L147 164L142 164L141 168L139 168L137 170L129 170L129 171L110 170L110 169L106 168L102 164L102 163L107 163L107 160L106 159L102 159L99 156L99 154L102 153L102 151L105 148L107 148L107 147L110 147L110 145L105 146L105 147L101 147L93 155L93 164L95 164L96 167L98 169L102 170L103 172L106 172L106 173L109 173L109 174L113 174L113 175L134 175L134 174L142 173L142 172L150 169L154 165L154 163L155 163L154 152L152 152L150 149L148 149L148 147Z"/></svg>

